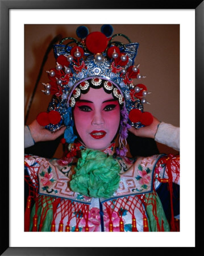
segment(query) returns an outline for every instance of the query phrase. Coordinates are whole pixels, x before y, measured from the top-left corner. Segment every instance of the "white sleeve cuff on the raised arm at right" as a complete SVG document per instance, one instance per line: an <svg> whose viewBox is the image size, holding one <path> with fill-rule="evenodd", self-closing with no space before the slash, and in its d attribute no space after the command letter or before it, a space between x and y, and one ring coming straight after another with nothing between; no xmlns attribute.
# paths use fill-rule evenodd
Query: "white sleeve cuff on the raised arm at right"
<svg viewBox="0 0 204 256"><path fill-rule="evenodd" d="M180 127L161 122L155 135L155 141L180 151Z"/></svg>

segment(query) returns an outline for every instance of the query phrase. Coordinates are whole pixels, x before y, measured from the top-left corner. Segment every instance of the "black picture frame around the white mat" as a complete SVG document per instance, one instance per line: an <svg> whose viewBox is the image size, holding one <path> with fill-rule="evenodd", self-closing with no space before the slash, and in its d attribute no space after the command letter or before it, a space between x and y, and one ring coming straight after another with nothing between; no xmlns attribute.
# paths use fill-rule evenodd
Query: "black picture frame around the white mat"
<svg viewBox="0 0 204 256"><path fill-rule="evenodd" d="M10 9L195 9L195 118L196 130L195 146L202 148L203 137L203 123L201 102L203 101L203 76L204 76L204 3L203 0L194 1L93 1L93 0L0 0L0 40L1 40L1 55L0 55L0 95L1 95L1 162L2 162L2 195L1 196L1 255L112 255L112 254L126 254L127 251L132 250L132 247L10 247L9 246L9 10ZM188 71L186 71L187 73ZM196 154L195 163L199 163L201 154ZM196 169L195 169L196 170ZM202 201L201 187L202 177L201 172L197 170L196 180L196 232L201 229L202 223ZM198 255L199 247L201 247L202 236L197 236L195 247L188 247L188 251L194 255ZM164 254L166 247L159 250L158 247L137 247L136 253L152 253ZM185 248L180 248L184 250ZM180 250L178 248L169 247L168 252L178 255ZM128 252L129 253L129 252Z"/></svg>

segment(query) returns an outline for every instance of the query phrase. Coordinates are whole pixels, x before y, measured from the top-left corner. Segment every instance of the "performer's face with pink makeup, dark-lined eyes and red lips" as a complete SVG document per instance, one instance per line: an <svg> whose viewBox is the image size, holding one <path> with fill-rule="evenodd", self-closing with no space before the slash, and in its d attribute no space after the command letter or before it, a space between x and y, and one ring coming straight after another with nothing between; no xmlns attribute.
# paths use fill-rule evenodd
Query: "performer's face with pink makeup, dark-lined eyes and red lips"
<svg viewBox="0 0 204 256"><path fill-rule="evenodd" d="M110 146L120 123L120 106L103 88L90 88L81 94L73 110L74 123L88 148L103 150Z"/></svg>

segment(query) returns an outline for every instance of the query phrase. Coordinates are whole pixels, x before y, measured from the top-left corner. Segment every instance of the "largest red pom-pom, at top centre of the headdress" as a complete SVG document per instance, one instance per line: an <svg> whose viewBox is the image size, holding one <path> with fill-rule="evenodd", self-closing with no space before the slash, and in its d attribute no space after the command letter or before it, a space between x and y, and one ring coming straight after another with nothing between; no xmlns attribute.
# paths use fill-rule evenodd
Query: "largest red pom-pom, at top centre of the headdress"
<svg viewBox="0 0 204 256"><path fill-rule="evenodd" d="M101 53L104 52L109 39L99 31L91 32L86 36L86 47L92 53Z"/></svg>

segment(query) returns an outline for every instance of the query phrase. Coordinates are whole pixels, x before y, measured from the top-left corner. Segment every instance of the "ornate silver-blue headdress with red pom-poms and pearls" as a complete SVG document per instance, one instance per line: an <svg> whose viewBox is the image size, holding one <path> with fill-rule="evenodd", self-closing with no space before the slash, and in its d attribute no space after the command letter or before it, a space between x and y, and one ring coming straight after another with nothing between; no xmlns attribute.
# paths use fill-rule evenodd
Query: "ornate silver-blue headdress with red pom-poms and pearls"
<svg viewBox="0 0 204 256"><path fill-rule="evenodd" d="M56 67L47 71L50 81L43 83L43 92L53 96L48 112L40 113L37 120L51 131L65 124L66 142L73 142L76 136L73 134L71 109L90 86L103 86L123 105L121 125L125 128L120 133L122 143L127 138L128 126L140 128L153 120L152 115L143 110L147 88L137 83L144 78L140 75L139 65L134 64L139 43L131 43L123 34L111 36L113 27L110 25L103 25L101 32L91 33L85 26L80 26L76 33L80 40L64 38L53 46ZM128 43L114 41L116 36L123 36Z"/></svg>

